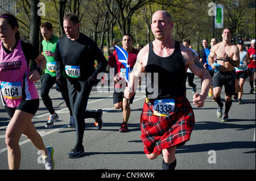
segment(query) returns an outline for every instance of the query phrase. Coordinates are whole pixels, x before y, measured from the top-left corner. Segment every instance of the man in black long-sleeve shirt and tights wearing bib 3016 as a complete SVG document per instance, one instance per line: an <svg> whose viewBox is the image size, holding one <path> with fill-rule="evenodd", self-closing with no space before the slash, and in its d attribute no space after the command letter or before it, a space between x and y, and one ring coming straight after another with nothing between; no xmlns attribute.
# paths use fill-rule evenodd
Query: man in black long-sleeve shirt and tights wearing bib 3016
<svg viewBox="0 0 256 181"><path fill-rule="evenodd" d="M69 158L78 158L84 154L82 138L84 137L84 119L92 117L102 127L102 110L85 111L92 85L97 83L98 73L104 72L108 62L98 49L96 43L79 32L79 21L75 14L64 16L66 35L60 37L56 45L56 77L62 78L63 69L67 75L68 93L73 117L76 121L76 146L68 154ZM97 69L94 69L97 60Z"/></svg>

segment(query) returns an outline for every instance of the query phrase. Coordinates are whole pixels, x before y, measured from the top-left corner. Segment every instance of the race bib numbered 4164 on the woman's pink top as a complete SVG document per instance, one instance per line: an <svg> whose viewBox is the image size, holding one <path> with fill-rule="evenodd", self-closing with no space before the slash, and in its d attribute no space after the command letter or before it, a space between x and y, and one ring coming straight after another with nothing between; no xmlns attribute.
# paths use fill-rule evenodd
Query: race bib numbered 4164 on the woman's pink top
<svg viewBox="0 0 256 181"><path fill-rule="evenodd" d="M2 82L1 91L4 98L20 99L22 98L22 88L20 82Z"/></svg>

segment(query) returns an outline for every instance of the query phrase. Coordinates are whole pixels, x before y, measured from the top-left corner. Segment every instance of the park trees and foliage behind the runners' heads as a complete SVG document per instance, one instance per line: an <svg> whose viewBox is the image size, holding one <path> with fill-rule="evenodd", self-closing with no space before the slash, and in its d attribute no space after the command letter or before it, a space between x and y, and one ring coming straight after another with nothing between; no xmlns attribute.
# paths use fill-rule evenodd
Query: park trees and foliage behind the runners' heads
<svg viewBox="0 0 256 181"><path fill-rule="evenodd" d="M156 10L170 12L172 37L191 40L197 52L203 39L222 40L222 28L213 28L212 4L224 6L224 27L233 30L233 43L255 39L255 1L252 0L1 0L0 12L14 14L21 39L42 51L40 24L50 22L56 36L65 34L63 17L72 12L80 20L80 32L92 38L105 56L112 41L121 46L122 36L134 36L134 47L154 40L150 24ZM214 31L213 31L214 30ZM108 59L108 58L107 58ZM31 66L33 68L33 65Z"/></svg>

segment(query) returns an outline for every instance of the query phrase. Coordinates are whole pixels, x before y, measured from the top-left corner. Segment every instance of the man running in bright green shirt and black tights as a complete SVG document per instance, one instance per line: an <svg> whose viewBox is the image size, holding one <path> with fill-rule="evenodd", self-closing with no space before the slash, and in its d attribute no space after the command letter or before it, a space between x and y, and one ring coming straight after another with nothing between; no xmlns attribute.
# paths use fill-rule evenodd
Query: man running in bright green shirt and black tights
<svg viewBox="0 0 256 181"><path fill-rule="evenodd" d="M70 112L70 121L68 127L73 128L75 127L75 121L73 120L68 98L67 80L65 77L63 77L58 82L56 82L55 48L59 37L53 35L52 24L49 22L41 24L40 30L44 39L42 41L43 54L47 61L45 73L41 77L41 97L43 99L44 105L50 113L46 123L46 128L51 128L54 122L59 119L59 116L53 109L52 100L49 97L49 90L55 83L59 87L59 91L61 92L61 95L65 100Z"/></svg>

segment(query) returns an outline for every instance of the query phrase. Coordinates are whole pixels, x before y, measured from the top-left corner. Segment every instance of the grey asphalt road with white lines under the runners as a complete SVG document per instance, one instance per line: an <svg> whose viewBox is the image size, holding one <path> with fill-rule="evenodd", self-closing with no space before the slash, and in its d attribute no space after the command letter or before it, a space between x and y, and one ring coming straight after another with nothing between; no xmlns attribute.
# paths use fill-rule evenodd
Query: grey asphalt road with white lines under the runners
<svg viewBox="0 0 256 181"><path fill-rule="evenodd" d="M194 82L197 83L197 92L200 92L200 79L195 77ZM40 87L38 83L36 85ZM153 161L147 159L139 137L141 135L139 118L145 98L143 87L137 92L131 105L127 133L118 132L122 123L122 112L115 110L113 106L113 93L108 89L93 87L87 108L104 110L104 127L99 131L94 126L93 119L85 120L86 154L77 159L67 158L67 154L75 146L76 131L74 128L67 128L69 112L60 92L51 89L49 93L55 111L59 114L59 120L52 128L44 127L49 113L40 99L39 110L32 121L46 146L54 148L55 169L101 170L104 173L105 171L102 170L161 170L162 155ZM216 117L217 103L212 102L212 98L206 99L204 108L196 108L192 105L196 125L191 140L176 150L176 170L255 170L255 94L249 94L248 79L244 88L242 99L245 104L238 105L233 101L229 111L229 121L226 123L222 123L221 119ZM40 89L38 90L40 95ZM187 98L192 104L192 90L188 85ZM224 101L224 90L221 98ZM8 123L9 117L1 104L0 170L8 169L5 144ZM44 170L38 150L25 136L20 138L20 149L22 151L20 169Z"/></svg>

